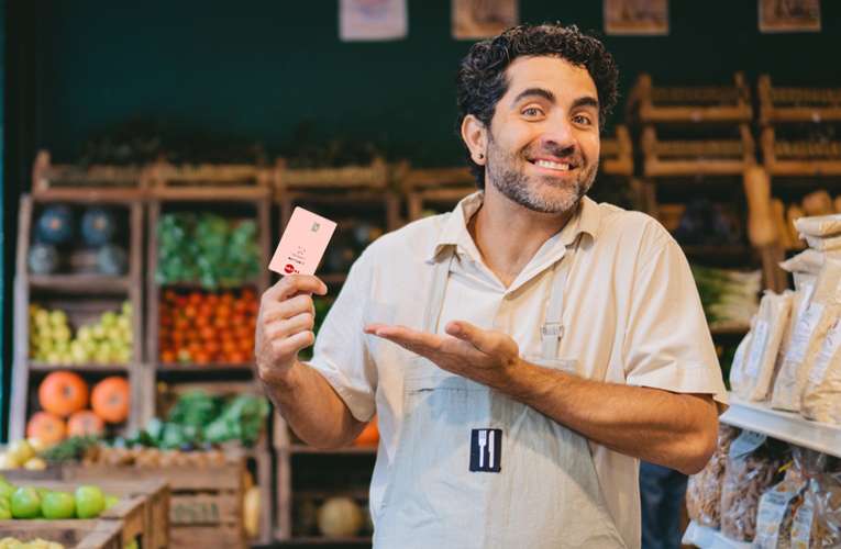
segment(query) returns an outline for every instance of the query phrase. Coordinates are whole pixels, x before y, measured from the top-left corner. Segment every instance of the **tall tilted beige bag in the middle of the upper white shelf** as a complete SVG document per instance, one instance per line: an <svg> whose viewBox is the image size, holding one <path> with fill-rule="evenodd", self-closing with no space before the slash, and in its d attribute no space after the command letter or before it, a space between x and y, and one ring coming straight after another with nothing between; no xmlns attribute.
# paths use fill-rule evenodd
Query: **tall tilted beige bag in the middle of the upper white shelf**
<svg viewBox="0 0 841 549"><path fill-rule="evenodd" d="M774 407L800 411L800 393L806 378L823 346L823 339L841 311L840 281L841 258L828 256L815 282L811 299L799 314L797 327L774 383Z"/></svg>

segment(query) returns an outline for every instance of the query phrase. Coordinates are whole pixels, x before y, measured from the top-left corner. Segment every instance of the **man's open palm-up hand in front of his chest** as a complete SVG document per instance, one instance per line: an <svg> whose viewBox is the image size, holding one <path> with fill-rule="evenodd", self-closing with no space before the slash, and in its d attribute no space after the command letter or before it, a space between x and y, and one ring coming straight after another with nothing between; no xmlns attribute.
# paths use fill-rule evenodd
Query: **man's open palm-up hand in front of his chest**
<svg viewBox="0 0 841 549"><path fill-rule="evenodd" d="M517 341L495 329L479 329L462 321L444 327L449 336L373 323L363 327L374 334L434 362L442 370L494 388L504 382L509 369L519 360Z"/></svg>

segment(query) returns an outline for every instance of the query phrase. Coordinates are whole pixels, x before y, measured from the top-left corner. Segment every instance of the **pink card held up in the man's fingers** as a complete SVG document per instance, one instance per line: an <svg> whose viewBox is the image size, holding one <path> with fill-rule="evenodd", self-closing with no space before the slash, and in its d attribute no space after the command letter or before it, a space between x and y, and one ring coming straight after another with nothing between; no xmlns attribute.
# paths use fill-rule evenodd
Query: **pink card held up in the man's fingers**
<svg viewBox="0 0 841 549"><path fill-rule="evenodd" d="M335 223L296 208L268 268L280 274L314 274Z"/></svg>

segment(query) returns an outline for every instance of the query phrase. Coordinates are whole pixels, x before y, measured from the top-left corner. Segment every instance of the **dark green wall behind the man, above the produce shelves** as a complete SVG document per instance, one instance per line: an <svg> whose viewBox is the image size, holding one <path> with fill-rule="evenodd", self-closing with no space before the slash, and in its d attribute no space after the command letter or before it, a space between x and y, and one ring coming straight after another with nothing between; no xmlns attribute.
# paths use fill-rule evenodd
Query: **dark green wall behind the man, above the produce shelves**
<svg viewBox="0 0 841 549"><path fill-rule="evenodd" d="M451 36L449 0L409 0L409 36L343 43L339 0L4 0L2 402L11 373L16 204L34 155L73 161L92 127L139 114L178 128L292 144L301 117L317 142L369 141L416 167L462 161L453 82L472 42ZM519 0L520 21L602 31L602 0ZM655 85L841 87L841 2L821 1L822 31L761 34L756 0L671 0L668 36L604 36L627 96ZM623 116L623 103L613 122ZM5 436L5 416L2 438Z"/></svg>

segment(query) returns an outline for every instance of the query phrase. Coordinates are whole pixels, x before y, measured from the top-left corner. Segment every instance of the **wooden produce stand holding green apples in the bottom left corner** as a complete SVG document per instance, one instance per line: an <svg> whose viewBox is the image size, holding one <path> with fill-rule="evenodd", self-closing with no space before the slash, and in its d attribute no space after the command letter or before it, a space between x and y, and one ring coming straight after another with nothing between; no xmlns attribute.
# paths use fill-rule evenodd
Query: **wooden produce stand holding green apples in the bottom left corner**
<svg viewBox="0 0 841 549"><path fill-rule="evenodd" d="M4 475L9 482L19 485L45 488L49 491L62 490L69 493L74 493L80 484L95 484L103 493L120 497L120 502L102 512L96 519L0 520L0 533L18 539L40 537L60 544L75 544L75 547L79 548L109 548L113 537L119 542L113 547L120 549L132 540L136 540L139 547L144 549L170 547L170 493L169 483L165 479L152 477L142 480L137 477L121 479L110 475L89 478L82 475L81 479L77 479L71 471L73 469L11 471L9 474L4 472ZM63 531L65 534L62 534ZM53 536L57 538L54 539Z"/></svg>

